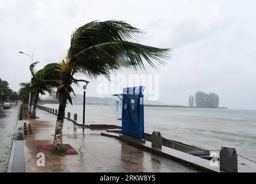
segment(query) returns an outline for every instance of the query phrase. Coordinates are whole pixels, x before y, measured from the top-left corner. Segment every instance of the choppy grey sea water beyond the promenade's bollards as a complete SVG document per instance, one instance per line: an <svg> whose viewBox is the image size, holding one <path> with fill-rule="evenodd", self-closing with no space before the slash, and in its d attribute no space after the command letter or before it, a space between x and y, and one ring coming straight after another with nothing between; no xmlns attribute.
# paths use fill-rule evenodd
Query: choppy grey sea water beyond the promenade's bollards
<svg viewBox="0 0 256 184"><path fill-rule="evenodd" d="M57 104L45 104L58 109ZM86 105L86 124L114 124L121 114L115 106ZM82 123L82 105L67 105L67 112L78 114ZM146 133L160 131L167 139L205 149L220 150L221 145L235 147L238 154L256 160L256 110L145 107Z"/></svg>

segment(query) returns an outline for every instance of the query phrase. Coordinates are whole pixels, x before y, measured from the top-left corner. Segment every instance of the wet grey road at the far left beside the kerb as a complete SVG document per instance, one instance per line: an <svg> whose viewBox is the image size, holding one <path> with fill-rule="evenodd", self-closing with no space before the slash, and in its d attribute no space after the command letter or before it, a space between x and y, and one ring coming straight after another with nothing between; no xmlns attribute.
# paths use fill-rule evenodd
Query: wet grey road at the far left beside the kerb
<svg viewBox="0 0 256 184"><path fill-rule="evenodd" d="M0 173L7 171L14 130L18 121L19 105L13 105L11 109L3 109L0 106Z"/></svg>

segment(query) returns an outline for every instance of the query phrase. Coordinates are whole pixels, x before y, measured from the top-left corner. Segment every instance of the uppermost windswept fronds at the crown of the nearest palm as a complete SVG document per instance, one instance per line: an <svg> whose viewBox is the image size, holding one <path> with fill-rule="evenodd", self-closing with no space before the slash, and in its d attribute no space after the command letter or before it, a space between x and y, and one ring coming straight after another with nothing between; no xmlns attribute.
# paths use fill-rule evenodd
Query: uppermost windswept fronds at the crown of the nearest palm
<svg viewBox="0 0 256 184"><path fill-rule="evenodd" d="M67 56L70 59L84 48L103 42L135 40L135 37L141 33L143 33L142 30L123 21L92 21L73 32Z"/></svg>

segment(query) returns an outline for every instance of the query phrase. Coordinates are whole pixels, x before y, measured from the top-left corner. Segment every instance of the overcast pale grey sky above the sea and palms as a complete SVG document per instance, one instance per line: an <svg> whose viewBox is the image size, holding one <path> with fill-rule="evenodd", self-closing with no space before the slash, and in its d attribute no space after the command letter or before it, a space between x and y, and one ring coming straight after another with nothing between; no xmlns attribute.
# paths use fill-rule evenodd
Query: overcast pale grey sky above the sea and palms
<svg viewBox="0 0 256 184"><path fill-rule="evenodd" d="M159 74L159 101L188 105L189 95L201 90L218 94L220 106L256 109L255 5L253 0L0 0L0 78L18 90L30 77L29 57L18 51L33 53L40 69L65 58L73 29L92 20L123 20L147 32L140 43L174 49L166 66L147 70ZM96 93L99 82L90 81L87 95L105 97Z"/></svg>

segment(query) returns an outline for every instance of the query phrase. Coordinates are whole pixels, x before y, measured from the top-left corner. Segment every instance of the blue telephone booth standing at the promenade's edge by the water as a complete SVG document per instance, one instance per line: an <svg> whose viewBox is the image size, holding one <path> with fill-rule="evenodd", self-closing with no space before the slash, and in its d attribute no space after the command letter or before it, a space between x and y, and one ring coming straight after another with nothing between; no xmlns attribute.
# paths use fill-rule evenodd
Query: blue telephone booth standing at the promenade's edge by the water
<svg viewBox="0 0 256 184"><path fill-rule="evenodd" d="M122 101L122 134L144 138L144 86L126 87L123 94L114 94Z"/></svg>

